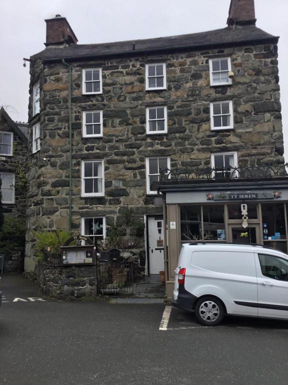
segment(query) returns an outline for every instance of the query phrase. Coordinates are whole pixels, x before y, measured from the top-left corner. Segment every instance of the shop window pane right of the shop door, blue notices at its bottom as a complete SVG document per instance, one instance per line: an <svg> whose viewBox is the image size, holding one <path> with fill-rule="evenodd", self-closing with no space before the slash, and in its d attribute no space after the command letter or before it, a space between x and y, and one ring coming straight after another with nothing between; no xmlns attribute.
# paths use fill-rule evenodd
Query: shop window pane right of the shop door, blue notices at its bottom
<svg viewBox="0 0 288 385"><path fill-rule="evenodd" d="M284 204L261 204L261 209L263 240L286 239Z"/></svg>

